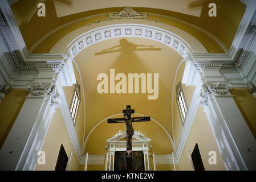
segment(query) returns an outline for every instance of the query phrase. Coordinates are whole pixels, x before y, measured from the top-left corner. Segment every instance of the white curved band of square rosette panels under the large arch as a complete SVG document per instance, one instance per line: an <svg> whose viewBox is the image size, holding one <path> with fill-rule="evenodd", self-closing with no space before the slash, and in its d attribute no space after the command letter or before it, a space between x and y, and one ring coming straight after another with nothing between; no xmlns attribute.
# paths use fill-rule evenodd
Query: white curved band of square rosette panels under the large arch
<svg viewBox="0 0 256 182"><path fill-rule="evenodd" d="M112 38L136 37L155 40L177 51L185 60L192 57L192 47L180 36L145 24L123 23L95 28L72 40L64 51L72 59L83 49Z"/></svg>

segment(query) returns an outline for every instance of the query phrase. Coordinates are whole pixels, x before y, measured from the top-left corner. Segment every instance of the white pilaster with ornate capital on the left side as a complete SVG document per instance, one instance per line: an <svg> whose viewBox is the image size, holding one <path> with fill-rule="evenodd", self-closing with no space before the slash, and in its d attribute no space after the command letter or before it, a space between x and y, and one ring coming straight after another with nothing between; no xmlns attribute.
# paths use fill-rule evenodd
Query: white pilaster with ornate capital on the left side
<svg viewBox="0 0 256 182"><path fill-rule="evenodd" d="M0 150L1 170L35 168L38 151L42 149L55 107L60 103L58 74L54 69L49 69L47 74L39 71L35 81L27 84L29 95Z"/></svg>

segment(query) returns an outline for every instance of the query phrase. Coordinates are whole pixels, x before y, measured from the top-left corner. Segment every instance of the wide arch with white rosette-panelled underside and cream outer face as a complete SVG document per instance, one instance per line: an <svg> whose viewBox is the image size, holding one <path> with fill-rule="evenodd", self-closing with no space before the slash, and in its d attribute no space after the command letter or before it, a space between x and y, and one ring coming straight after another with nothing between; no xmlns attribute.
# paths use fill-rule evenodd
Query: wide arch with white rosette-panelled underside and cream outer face
<svg viewBox="0 0 256 182"><path fill-rule="evenodd" d="M207 53L206 48L192 35L165 23L143 19L121 19L94 23L78 28L55 44L50 53L65 53L74 58L83 49L103 40L113 38L145 38L155 40L174 49L188 60L193 53Z"/></svg>

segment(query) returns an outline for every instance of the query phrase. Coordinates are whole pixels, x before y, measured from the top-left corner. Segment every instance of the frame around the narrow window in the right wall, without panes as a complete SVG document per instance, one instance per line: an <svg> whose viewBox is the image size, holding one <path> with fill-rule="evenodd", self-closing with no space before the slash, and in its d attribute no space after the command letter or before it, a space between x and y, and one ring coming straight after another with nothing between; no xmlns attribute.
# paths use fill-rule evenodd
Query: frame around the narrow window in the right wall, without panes
<svg viewBox="0 0 256 182"><path fill-rule="evenodd" d="M183 114L182 114L182 108L181 108L181 105L180 105L180 102L178 101L178 97L180 96L180 93L182 94L182 98L183 98L183 101L184 103L182 102L182 105L184 105L184 109L185 109L185 118L183 117ZM186 119L186 115L188 114L188 105L186 104L186 98L184 96L184 92L182 90L182 86L181 86L181 82L179 81L177 86L176 86L176 102L177 102L177 106L178 106L178 112L180 113L180 118L181 118L181 123L182 123L182 126L184 126L184 123L185 123L185 119Z"/></svg>

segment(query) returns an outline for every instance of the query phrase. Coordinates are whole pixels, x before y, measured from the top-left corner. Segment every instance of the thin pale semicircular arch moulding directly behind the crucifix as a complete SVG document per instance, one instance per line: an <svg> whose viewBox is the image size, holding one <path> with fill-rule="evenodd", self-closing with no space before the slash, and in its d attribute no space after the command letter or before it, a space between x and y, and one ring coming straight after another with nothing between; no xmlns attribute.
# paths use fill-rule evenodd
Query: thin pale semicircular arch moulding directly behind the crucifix
<svg viewBox="0 0 256 182"><path fill-rule="evenodd" d="M134 113L134 114L139 115L139 116L141 116L141 117L147 116L147 115L145 115L145 114L140 114L140 113ZM118 116L118 115L123 115L123 113L118 113L118 114L109 115L107 118L104 118L104 119L100 120L99 122L97 122L96 125L94 125L94 127L92 127L92 129L91 129L91 130L89 131L89 133L86 135L86 138L84 139L83 145L86 146L86 143L87 143L88 139L90 138L92 132L96 129L97 126L99 126L103 121L107 121L107 119L116 117L116 116ZM159 126L165 131L166 135L168 136L168 138L169 138L169 140L170 140L170 144L172 144L172 150L173 150L173 152L175 153L175 152L176 152L176 148L175 148L175 146L174 146L174 142L173 142L172 136L170 136L168 130L166 130L166 128L165 128L164 126L162 126L162 124L161 124L160 122L158 122L156 119L154 119L154 118L151 117L151 120L152 120L153 122L157 123L157 125L159 125ZM83 151L83 152L84 152L84 151Z"/></svg>

